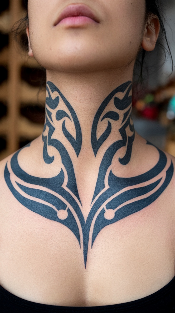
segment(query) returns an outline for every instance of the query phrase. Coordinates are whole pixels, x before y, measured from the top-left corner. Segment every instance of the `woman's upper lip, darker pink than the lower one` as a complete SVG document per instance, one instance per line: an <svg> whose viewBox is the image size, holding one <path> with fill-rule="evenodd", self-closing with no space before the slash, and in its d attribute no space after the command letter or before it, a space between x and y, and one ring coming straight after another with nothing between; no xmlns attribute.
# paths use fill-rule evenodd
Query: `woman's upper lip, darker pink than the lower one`
<svg viewBox="0 0 175 313"><path fill-rule="evenodd" d="M73 16L86 16L88 18L91 18L95 22L99 23L98 18L95 16L95 14L92 12L92 10L85 4L70 4L68 5L59 17L56 19L56 22L54 23L54 26L56 26L58 23L60 23L64 18L69 18Z"/></svg>

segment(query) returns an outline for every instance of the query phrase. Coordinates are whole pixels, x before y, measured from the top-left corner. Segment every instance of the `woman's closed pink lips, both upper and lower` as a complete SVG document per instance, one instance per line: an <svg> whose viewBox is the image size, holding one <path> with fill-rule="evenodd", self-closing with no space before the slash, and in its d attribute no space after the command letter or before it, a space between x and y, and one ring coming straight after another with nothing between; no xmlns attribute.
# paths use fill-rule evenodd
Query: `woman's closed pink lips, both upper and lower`
<svg viewBox="0 0 175 313"><path fill-rule="evenodd" d="M84 4L71 4L61 12L54 26L58 24L78 26L89 23L99 23L91 9Z"/></svg>

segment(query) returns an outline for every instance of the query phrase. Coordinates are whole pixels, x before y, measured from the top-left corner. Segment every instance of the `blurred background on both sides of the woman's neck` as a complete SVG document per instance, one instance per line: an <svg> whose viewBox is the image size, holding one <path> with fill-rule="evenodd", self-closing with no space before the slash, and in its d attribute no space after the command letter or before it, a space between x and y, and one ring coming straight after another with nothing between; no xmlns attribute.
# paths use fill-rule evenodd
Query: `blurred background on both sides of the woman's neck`
<svg viewBox="0 0 175 313"><path fill-rule="evenodd" d="M175 0L162 1L175 64ZM0 160L39 136L44 125L43 69L10 33L12 25L24 16L24 1L0 4ZM134 82L134 126L141 136L175 156L175 70L172 72L168 54L164 62L161 49L148 58L146 84Z"/></svg>

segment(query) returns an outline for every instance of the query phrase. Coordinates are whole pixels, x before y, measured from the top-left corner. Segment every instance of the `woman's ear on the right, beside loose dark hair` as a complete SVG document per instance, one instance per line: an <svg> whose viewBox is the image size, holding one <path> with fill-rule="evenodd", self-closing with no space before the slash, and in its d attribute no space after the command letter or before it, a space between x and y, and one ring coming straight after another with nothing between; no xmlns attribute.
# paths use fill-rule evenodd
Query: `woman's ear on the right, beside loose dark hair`
<svg viewBox="0 0 175 313"><path fill-rule="evenodd" d="M146 51L153 51L158 39L160 23L156 15L152 15L145 27L142 41L142 48Z"/></svg>

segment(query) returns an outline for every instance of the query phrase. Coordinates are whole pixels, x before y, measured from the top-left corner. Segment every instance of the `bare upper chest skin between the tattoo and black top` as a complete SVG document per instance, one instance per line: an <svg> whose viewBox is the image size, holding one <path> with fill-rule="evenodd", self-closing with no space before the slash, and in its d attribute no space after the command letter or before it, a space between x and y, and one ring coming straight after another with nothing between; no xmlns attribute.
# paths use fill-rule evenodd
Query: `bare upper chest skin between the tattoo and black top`
<svg viewBox="0 0 175 313"><path fill-rule="evenodd" d="M52 305L110 305L142 298L173 278L174 176L152 204L100 231L85 268L75 235L19 203L4 166L0 284L13 294Z"/></svg>

